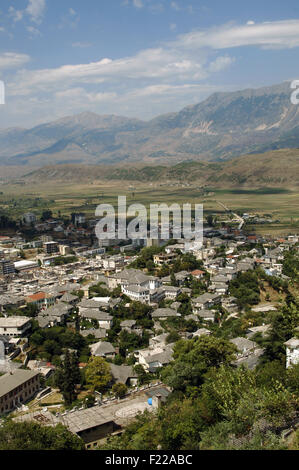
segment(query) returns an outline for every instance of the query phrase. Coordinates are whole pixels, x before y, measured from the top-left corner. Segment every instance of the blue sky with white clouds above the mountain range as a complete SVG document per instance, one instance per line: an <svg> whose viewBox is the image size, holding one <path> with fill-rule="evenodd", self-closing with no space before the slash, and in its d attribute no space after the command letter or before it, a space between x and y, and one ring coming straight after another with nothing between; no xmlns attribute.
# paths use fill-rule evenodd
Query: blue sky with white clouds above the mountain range
<svg viewBox="0 0 299 470"><path fill-rule="evenodd" d="M1 0L0 128L299 79L298 0Z"/></svg>

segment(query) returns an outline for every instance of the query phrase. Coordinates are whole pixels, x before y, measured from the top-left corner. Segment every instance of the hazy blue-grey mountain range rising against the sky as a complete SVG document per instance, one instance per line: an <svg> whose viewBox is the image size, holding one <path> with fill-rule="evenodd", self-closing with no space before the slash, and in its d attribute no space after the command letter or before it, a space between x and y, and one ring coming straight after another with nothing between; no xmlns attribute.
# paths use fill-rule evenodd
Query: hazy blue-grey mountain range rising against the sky
<svg viewBox="0 0 299 470"><path fill-rule="evenodd" d="M150 121L84 112L32 129L0 130L0 165L174 164L299 147L290 83L214 93Z"/></svg>

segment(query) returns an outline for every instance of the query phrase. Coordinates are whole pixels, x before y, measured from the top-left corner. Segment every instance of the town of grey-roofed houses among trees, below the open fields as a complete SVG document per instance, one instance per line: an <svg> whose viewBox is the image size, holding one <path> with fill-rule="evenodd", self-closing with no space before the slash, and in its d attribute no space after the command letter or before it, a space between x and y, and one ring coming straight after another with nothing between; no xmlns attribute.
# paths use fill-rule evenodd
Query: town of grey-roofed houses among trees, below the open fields
<svg viewBox="0 0 299 470"><path fill-rule="evenodd" d="M299 239L250 233L248 217L207 217L200 246L98 240L83 213L2 221L0 416L63 424L98 449L163 407L178 344L226 341L230 365L255 370L275 313L298 312ZM285 369L299 363L296 318Z"/></svg>

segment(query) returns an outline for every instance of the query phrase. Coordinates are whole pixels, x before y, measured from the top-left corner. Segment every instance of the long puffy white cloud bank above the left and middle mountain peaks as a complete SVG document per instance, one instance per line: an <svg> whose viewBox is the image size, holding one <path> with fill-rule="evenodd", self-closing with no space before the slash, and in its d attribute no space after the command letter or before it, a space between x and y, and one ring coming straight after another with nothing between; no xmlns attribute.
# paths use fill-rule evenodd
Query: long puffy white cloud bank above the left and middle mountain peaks
<svg viewBox="0 0 299 470"><path fill-rule="evenodd" d="M206 77L203 63L191 57L186 58L174 50L163 48L145 49L132 57L78 65L64 65L53 69L21 71L11 84L11 93L28 94L37 88L50 90L58 86L67 87L75 83L103 83L114 80L182 80L192 77L199 80Z"/></svg>

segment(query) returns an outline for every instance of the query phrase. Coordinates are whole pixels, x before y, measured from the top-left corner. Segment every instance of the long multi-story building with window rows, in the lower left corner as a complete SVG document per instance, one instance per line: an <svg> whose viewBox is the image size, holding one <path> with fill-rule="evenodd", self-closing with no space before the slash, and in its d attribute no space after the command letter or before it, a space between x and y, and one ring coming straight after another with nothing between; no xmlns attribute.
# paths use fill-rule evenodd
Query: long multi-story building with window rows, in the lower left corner
<svg viewBox="0 0 299 470"><path fill-rule="evenodd" d="M30 400L39 390L39 372L17 369L0 377L0 415Z"/></svg>

